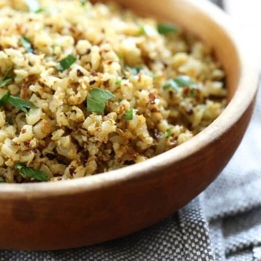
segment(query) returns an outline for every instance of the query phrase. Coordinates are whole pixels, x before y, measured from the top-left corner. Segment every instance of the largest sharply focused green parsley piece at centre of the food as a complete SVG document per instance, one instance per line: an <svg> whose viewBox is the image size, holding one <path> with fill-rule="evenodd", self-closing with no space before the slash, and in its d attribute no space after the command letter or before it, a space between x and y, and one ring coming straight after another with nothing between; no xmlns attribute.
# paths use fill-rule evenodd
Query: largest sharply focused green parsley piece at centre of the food
<svg viewBox="0 0 261 261"><path fill-rule="evenodd" d="M107 90L92 88L91 97L92 98L87 98L87 111L103 113L106 100L112 99L115 96Z"/></svg>

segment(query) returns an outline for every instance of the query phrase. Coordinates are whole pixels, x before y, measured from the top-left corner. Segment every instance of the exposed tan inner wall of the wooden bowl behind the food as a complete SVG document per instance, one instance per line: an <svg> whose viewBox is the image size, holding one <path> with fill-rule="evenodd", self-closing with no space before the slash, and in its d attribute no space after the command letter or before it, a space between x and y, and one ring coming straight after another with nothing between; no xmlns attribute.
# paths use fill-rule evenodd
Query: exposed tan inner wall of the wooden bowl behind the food
<svg viewBox="0 0 261 261"><path fill-rule="evenodd" d="M111 2L110 0L93 0L92 3ZM164 4L158 0L117 0L122 7L133 10L143 17L153 17L161 22L172 22L186 31L193 33L203 42L213 48L216 58L221 62L226 72L226 87L228 90L228 101L231 100L238 86L240 67L238 53L231 42L231 38L223 27L217 25L214 20L209 20L207 8L205 14L199 10L199 4L194 0L166 0ZM191 6L188 6L191 2ZM200 0L198 2L201 2ZM202 3L202 8L205 7ZM175 10L175 12L173 12ZM204 11L204 10L203 10ZM184 15L186 14L186 15Z"/></svg>

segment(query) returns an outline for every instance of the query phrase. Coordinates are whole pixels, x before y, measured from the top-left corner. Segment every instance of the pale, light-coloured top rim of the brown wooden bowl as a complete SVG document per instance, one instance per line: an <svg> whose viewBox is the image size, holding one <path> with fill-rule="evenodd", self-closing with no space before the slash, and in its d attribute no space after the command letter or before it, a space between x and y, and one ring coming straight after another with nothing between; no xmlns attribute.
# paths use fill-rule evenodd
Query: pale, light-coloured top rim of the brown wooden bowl
<svg viewBox="0 0 261 261"><path fill-rule="evenodd" d="M175 0L172 0L175 1ZM129 180L139 179L148 175L159 173L164 165L171 165L181 159L197 153L208 143L224 134L227 129L235 127L236 121L254 100L258 86L257 61L249 55L254 51L247 48L245 39L241 37L240 31L233 20L221 9L208 0L183 0L193 8L197 9L208 18L215 17L215 22L227 34L233 43L239 58L240 77L238 87L224 111L202 132L183 143L182 145L164 152L158 156L141 163L136 163L108 173L100 173L87 177L63 180L59 182L22 183L22 184L0 184L0 200L47 198L58 195L70 195L109 187ZM239 44L240 43L240 44ZM243 44L242 44L243 43ZM252 76L249 84L249 75ZM247 77L246 77L247 76ZM246 86L247 85L247 86ZM245 95L244 95L245 94ZM239 112L233 114L235 107L240 106ZM221 126L221 127L220 127Z"/></svg>

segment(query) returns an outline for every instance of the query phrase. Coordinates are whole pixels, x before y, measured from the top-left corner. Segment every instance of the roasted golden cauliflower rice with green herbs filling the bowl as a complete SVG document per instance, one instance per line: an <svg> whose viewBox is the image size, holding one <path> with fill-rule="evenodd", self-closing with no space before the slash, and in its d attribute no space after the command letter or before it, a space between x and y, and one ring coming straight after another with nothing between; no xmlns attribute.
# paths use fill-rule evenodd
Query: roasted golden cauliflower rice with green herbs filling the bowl
<svg viewBox="0 0 261 261"><path fill-rule="evenodd" d="M175 148L222 112L224 77L206 44L115 4L0 0L0 179L79 178Z"/></svg>

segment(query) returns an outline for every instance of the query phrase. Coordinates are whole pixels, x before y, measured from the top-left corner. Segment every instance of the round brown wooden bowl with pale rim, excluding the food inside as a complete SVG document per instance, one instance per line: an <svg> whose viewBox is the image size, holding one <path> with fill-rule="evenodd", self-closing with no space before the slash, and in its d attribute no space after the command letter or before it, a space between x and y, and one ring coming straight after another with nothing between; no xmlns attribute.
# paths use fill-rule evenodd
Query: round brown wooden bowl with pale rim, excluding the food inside
<svg viewBox="0 0 261 261"><path fill-rule="evenodd" d="M230 102L203 132L144 163L57 183L0 185L0 246L59 249L99 243L145 228L178 210L222 171L251 117L258 70L251 42L206 0L117 1L172 21L214 47Z"/></svg>

